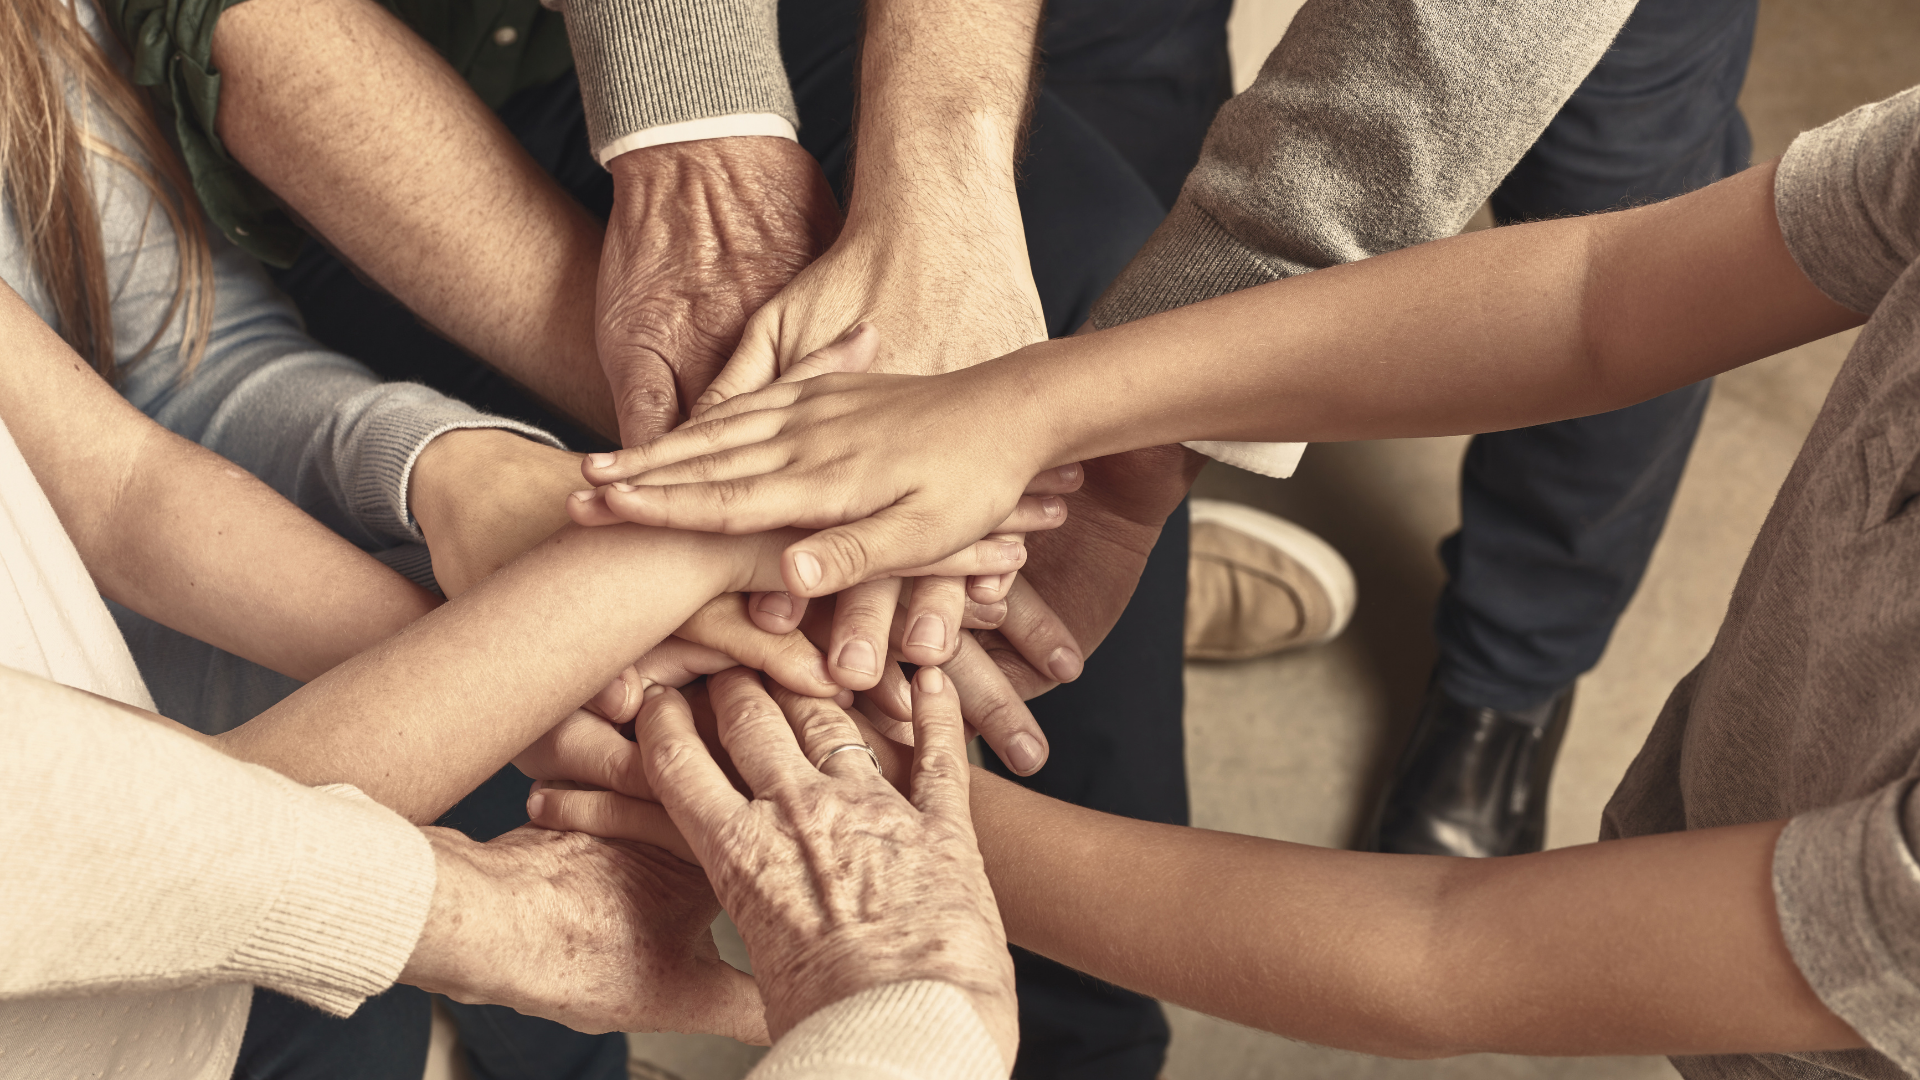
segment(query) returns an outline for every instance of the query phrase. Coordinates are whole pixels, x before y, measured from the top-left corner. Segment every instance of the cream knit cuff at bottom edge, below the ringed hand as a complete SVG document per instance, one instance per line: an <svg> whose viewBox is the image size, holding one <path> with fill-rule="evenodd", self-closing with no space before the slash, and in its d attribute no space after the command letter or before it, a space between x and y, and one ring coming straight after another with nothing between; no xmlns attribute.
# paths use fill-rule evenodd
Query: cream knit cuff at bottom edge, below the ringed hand
<svg viewBox="0 0 1920 1080"><path fill-rule="evenodd" d="M950 984L876 986L787 1032L747 1080L1006 1080L973 1003Z"/></svg>

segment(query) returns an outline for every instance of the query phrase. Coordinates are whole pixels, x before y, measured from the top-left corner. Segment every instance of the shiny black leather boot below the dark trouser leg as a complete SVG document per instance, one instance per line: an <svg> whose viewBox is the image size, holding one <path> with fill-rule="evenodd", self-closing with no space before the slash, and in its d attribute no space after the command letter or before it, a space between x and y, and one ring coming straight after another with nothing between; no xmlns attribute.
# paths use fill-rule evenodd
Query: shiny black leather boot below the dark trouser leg
<svg viewBox="0 0 1920 1080"><path fill-rule="evenodd" d="M1427 692L1363 851L1523 855L1548 836L1548 782L1572 686L1524 713L1461 705Z"/></svg>

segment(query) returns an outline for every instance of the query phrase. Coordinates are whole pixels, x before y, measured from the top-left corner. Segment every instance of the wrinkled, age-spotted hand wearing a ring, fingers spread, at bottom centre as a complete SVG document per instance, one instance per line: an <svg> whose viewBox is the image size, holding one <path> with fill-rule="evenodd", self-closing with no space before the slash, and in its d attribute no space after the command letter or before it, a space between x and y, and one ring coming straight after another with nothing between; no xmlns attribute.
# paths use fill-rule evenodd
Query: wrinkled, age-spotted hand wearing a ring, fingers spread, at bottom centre
<svg viewBox="0 0 1920 1080"><path fill-rule="evenodd" d="M814 765L864 742L835 705L776 703L747 671L716 676L710 692L751 798L676 692L655 692L636 734L653 790L747 940L768 1034L862 990L927 978L972 999L1012 1067L1014 965L968 817L958 701L939 669L916 675L910 799L864 753Z"/></svg>

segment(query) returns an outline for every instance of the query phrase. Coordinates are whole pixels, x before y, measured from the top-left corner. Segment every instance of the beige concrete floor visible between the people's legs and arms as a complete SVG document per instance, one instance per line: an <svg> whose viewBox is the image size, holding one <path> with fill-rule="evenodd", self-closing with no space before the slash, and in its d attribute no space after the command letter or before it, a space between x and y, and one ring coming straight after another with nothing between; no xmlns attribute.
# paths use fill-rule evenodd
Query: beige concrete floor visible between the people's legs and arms
<svg viewBox="0 0 1920 1080"><path fill-rule="evenodd" d="M1242 85L1294 8L1296 0L1240 0L1233 44ZM1914 83L1920 6L1910 0L1763 0L1741 96L1755 160ZM1841 334L1720 379L1645 582L1607 655L1580 682L1553 788L1553 846L1596 836L1601 805L1668 688L1707 651L1849 344ZM1202 475L1196 494L1273 509L1327 536L1354 563L1361 600L1354 626L1325 648L1187 669L1194 824L1323 846L1352 840L1432 663L1428 617L1442 584L1434 544L1457 525L1463 450L1463 438L1334 444L1311 448L1286 482L1223 465ZM1674 1076L1663 1059L1386 1061L1169 1013L1171 1080ZM632 1045L634 1076L645 1080L735 1080L758 1059L712 1038L634 1036Z"/></svg>

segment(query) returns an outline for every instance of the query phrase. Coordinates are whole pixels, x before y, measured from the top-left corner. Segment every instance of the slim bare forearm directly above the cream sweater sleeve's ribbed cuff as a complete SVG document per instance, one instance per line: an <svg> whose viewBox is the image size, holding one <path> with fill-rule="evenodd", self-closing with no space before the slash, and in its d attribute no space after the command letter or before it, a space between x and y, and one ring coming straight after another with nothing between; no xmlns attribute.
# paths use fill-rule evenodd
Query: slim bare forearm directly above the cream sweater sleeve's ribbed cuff
<svg viewBox="0 0 1920 1080"><path fill-rule="evenodd" d="M236 728L230 751L434 821L703 603L778 588L783 540L566 528ZM762 552L772 573L741 569Z"/></svg>

